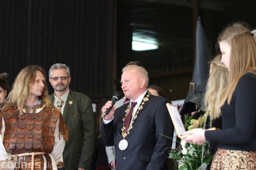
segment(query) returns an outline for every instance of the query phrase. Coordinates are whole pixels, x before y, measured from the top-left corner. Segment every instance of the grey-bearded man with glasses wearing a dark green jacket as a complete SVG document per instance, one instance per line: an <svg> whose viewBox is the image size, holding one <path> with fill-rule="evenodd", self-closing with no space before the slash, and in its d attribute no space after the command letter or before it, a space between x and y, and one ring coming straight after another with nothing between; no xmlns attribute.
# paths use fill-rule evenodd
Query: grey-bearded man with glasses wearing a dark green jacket
<svg viewBox="0 0 256 170"><path fill-rule="evenodd" d="M58 169L90 169L94 149L95 130L91 99L79 92L69 90L71 74L69 67L56 63L49 69L49 82L54 94L51 102L63 113L69 140L65 143L63 164Z"/></svg>

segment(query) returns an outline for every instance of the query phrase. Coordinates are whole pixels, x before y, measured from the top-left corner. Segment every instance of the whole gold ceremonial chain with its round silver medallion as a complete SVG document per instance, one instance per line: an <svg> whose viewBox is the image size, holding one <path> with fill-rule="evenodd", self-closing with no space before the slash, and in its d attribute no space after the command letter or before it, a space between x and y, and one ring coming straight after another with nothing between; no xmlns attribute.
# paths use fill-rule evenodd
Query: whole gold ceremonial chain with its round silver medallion
<svg viewBox="0 0 256 170"><path fill-rule="evenodd" d="M123 118L123 128L121 129L122 130L122 137L123 139L119 142L119 149L120 150L126 150L126 148L128 147L128 141L126 141L125 137L130 133L131 129L133 129L133 124L134 124L134 121L136 120L136 118L138 117L139 115L139 112L143 109L143 105L145 104L146 101L148 101L148 97L150 96L150 92L147 91L147 96L143 98L143 101L141 103L141 105L139 105L138 109L137 109L137 112L135 113L134 117L133 117L133 120L131 122L131 125L129 126L129 128L127 129L127 131L125 132L125 117L127 116L127 114L129 113L130 111L130 104L128 105L126 111L125 111L125 117Z"/></svg>

